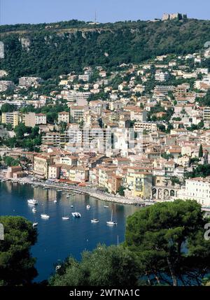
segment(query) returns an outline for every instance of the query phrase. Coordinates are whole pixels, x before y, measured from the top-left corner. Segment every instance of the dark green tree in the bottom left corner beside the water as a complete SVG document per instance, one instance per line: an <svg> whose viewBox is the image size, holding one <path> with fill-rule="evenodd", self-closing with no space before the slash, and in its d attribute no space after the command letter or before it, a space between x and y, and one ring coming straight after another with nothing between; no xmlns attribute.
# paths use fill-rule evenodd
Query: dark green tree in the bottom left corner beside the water
<svg viewBox="0 0 210 300"><path fill-rule="evenodd" d="M0 282L2 285L28 285L37 276L36 259L31 246L37 233L31 222L23 217L0 217L4 240L0 243Z"/></svg>

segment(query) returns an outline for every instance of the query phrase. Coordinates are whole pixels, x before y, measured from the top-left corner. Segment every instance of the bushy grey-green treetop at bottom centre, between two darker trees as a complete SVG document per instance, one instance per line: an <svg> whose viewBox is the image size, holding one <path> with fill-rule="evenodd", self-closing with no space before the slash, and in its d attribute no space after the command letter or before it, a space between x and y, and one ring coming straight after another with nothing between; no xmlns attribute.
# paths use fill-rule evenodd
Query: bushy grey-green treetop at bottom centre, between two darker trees
<svg viewBox="0 0 210 300"><path fill-rule="evenodd" d="M52 276L55 286L132 286L137 284L134 255L123 246L98 245L92 252L83 252L81 262L69 257Z"/></svg>

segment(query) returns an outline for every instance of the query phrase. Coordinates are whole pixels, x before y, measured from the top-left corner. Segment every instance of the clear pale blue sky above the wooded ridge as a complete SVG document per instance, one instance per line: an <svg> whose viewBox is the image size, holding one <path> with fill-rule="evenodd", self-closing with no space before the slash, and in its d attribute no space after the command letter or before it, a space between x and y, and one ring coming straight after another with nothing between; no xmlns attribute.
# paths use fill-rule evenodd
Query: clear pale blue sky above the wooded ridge
<svg viewBox="0 0 210 300"><path fill-rule="evenodd" d="M210 19L209 0L0 0L1 24L57 22L78 19L99 22L151 20L162 13L188 13Z"/></svg>

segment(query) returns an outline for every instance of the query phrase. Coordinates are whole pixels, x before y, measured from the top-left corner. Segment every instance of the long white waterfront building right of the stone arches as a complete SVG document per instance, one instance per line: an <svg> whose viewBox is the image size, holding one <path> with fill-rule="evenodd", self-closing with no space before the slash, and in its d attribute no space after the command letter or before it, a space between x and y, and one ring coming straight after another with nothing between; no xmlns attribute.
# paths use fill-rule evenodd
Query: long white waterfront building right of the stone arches
<svg viewBox="0 0 210 300"><path fill-rule="evenodd" d="M177 196L183 200L196 200L202 206L210 206L210 177L187 179Z"/></svg>

